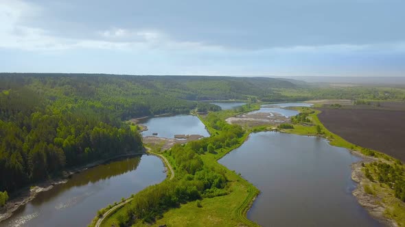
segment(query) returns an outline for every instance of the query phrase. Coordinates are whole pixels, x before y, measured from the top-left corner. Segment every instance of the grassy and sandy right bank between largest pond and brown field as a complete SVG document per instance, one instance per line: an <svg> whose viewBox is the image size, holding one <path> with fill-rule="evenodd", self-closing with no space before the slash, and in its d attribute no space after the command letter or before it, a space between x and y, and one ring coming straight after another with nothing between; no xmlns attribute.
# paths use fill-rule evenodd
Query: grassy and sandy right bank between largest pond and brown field
<svg viewBox="0 0 405 227"><path fill-rule="evenodd" d="M306 111L309 113L308 117L312 121L312 125L304 126L301 124L294 124L294 129L282 129L281 132L324 137L332 146L347 148L353 155L360 157L362 159L361 161L351 165L351 178L357 183L356 189L352 191L353 196L356 197L359 204L362 205L373 218L377 219L382 224L385 224L386 226L404 225L405 219L404 217L401 217L401 213L405 212L404 202L393 196L394 193L392 189L384 188L378 182L369 181L364 172L364 165L367 163L394 163L395 159L385 155L382 152L365 149L360 146L356 146L355 144L351 144L339 135L332 133L326 129L326 127L319 120L318 114L321 113L319 110L308 108L304 109L301 107L296 107L294 109L297 109L300 112ZM318 129L316 129L317 125L321 127L321 133L319 133ZM368 186L365 185L373 185L373 193L367 193L364 188Z"/></svg>

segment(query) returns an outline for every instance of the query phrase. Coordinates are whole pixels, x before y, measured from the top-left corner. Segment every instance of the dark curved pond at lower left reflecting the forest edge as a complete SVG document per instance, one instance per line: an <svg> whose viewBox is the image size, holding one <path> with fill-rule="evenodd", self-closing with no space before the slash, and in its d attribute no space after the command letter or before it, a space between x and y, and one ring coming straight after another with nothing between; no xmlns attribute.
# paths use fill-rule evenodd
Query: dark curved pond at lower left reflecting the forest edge
<svg viewBox="0 0 405 227"><path fill-rule="evenodd" d="M98 165L39 193L0 226L87 226L99 209L163 181L163 168L148 155Z"/></svg>

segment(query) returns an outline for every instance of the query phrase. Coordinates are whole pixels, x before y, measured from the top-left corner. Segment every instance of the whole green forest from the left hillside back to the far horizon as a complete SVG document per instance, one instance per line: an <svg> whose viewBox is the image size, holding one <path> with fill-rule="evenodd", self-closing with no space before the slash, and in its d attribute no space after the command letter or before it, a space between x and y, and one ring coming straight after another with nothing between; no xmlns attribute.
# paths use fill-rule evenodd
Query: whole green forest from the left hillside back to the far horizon
<svg viewBox="0 0 405 227"><path fill-rule="evenodd" d="M124 120L220 109L200 101L385 100L404 94L389 88L312 88L264 77L0 73L0 191L141 149L141 137Z"/></svg>

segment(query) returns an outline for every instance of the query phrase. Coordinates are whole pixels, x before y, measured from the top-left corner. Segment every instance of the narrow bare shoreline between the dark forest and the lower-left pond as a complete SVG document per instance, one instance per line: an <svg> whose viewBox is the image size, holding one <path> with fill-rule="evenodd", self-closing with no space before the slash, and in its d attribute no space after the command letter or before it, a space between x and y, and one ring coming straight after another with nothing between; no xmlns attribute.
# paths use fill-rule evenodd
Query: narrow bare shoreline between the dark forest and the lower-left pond
<svg viewBox="0 0 405 227"><path fill-rule="evenodd" d="M1 209L0 222L11 217L13 215L13 213L17 209L19 209L21 206L24 206L31 200L34 200L34 198L36 198L38 193L43 192L43 191L49 191L55 185L67 183L67 181L69 181L69 178L73 174L78 174L84 170L88 170L89 168L93 168L97 165L102 165L103 163L112 161L114 159L119 159L122 157L132 157L135 155L148 155L148 154L146 152L135 152L135 153L126 152L121 155L115 155L114 157L109 157L107 159L100 159L97 161L93 161L92 163L88 163L86 165L64 170L64 171L62 171L62 176L59 176L56 178L51 178L51 179L48 179L45 181L41 181L39 183L35 183L34 187L29 187L29 186L24 187L23 189L20 189L19 191L14 192L13 198L7 202L7 204L3 207L3 209Z"/></svg>

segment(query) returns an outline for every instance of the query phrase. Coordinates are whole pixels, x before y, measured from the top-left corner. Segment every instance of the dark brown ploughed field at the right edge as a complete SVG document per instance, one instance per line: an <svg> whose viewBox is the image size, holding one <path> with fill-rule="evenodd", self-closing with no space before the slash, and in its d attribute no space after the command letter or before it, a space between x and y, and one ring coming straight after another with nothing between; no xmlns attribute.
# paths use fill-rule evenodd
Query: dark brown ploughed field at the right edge
<svg viewBox="0 0 405 227"><path fill-rule="evenodd" d="M352 144L405 161L405 111L322 108L319 120Z"/></svg>

